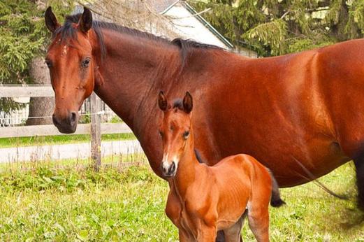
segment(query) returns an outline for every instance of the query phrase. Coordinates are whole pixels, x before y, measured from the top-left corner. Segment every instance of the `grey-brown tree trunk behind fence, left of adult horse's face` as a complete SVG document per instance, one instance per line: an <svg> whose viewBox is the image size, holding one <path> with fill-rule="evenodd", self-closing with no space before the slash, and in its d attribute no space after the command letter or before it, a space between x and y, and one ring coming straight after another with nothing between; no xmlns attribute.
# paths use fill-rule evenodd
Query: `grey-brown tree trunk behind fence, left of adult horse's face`
<svg viewBox="0 0 364 242"><path fill-rule="evenodd" d="M36 57L31 61L29 75L34 84L50 84L50 73L43 58ZM54 97L31 97L27 125L52 124ZM47 118L37 118L47 117Z"/></svg>

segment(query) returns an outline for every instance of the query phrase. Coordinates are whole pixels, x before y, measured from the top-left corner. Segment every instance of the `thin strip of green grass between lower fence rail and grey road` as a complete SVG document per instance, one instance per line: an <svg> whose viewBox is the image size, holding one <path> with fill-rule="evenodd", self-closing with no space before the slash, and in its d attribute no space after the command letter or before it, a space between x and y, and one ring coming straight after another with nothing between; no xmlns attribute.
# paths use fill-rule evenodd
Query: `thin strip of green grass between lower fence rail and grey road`
<svg viewBox="0 0 364 242"><path fill-rule="evenodd" d="M135 139L133 134L102 134L103 141L119 141ZM59 145L64 143L89 142L89 134L56 135L56 136L32 136L18 138L0 138L0 148L38 146L38 145Z"/></svg>

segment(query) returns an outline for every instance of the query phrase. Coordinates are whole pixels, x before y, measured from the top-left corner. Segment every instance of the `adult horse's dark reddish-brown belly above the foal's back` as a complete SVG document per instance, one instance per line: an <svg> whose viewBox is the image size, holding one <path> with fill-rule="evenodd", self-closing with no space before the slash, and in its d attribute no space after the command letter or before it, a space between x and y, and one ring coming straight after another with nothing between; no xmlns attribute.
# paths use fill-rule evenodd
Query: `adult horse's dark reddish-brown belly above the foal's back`
<svg viewBox="0 0 364 242"><path fill-rule="evenodd" d="M274 139L267 134L266 140L245 136L232 142L222 156L245 153L252 155L274 174L280 187L291 187L319 178L348 162L340 145L326 136L308 139ZM270 140L270 138L272 138ZM255 141L255 142L252 142Z"/></svg>

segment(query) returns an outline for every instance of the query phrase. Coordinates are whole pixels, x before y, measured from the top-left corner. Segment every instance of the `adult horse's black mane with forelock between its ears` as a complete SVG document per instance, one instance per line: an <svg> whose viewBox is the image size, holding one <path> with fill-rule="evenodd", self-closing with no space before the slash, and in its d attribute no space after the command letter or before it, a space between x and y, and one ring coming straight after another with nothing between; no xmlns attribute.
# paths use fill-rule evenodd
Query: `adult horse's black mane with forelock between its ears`
<svg viewBox="0 0 364 242"><path fill-rule="evenodd" d="M54 31L54 36L57 34L61 34L61 41L66 41L68 38L76 38L76 29L72 26L73 23L78 23L81 17L81 13L75 15L66 16L66 20L64 25L59 27L56 31ZM159 43L166 43L169 45L176 45L181 50L182 55L182 63L185 64L187 62L187 57L189 54L189 49L191 48L205 48L205 49L220 49L222 48L216 45L208 45L204 43L198 43L191 39L184 40L182 38L175 38L173 41L168 40L167 38L155 36L154 34L150 34L144 31L140 31L138 29L131 29L128 27L120 26L117 24L112 24L110 22L102 22L102 21L93 21L92 29L96 32L96 35L99 38L99 44L101 46L101 56L105 55L105 44L103 42L103 34L101 29L111 29L115 31L119 31L124 34L129 34L131 36L136 36L140 38L147 38L154 40Z"/></svg>

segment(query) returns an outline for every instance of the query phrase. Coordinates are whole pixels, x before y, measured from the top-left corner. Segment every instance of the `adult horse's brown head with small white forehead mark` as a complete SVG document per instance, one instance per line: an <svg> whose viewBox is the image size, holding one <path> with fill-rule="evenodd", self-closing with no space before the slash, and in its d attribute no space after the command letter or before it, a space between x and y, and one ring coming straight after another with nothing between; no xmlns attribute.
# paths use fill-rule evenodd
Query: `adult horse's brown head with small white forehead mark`
<svg viewBox="0 0 364 242"><path fill-rule="evenodd" d="M62 133L73 133L78 111L92 94L99 74L92 50L92 41L96 38L91 30L92 13L84 8L82 15L68 17L60 25L49 7L45 24L53 36L45 57L55 93L53 123Z"/></svg>

